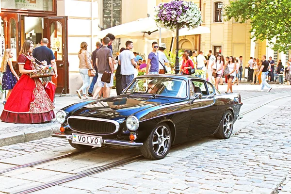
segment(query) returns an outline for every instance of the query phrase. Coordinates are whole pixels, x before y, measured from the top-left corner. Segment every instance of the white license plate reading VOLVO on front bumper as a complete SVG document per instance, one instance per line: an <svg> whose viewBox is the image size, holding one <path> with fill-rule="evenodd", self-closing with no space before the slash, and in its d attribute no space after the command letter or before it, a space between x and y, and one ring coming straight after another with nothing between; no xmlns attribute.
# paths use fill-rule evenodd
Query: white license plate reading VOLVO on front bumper
<svg viewBox="0 0 291 194"><path fill-rule="evenodd" d="M101 147L102 137L94 136L94 135L72 133L72 143Z"/></svg>

